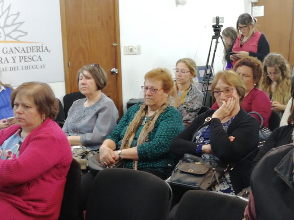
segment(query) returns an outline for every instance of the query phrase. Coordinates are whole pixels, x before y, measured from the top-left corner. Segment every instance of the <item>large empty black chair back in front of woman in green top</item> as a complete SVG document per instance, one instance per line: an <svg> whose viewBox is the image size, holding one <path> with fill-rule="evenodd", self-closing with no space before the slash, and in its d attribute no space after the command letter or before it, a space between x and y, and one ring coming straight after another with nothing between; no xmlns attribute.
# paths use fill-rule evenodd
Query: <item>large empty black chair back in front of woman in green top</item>
<svg viewBox="0 0 294 220"><path fill-rule="evenodd" d="M86 220L165 220L169 193L167 183L150 173L105 169L93 182Z"/></svg>

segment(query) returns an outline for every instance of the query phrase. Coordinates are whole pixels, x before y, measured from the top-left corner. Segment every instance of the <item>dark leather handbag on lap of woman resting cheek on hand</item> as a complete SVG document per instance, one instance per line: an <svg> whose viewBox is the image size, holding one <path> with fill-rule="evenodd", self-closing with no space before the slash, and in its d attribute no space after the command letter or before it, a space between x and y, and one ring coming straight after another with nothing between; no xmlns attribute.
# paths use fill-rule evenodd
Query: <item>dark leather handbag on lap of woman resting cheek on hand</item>
<svg viewBox="0 0 294 220"><path fill-rule="evenodd" d="M229 165L224 165L217 160L202 159L195 155L184 154L168 183L171 186L208 190L219 182L219 179L230 169Z"/></svg>

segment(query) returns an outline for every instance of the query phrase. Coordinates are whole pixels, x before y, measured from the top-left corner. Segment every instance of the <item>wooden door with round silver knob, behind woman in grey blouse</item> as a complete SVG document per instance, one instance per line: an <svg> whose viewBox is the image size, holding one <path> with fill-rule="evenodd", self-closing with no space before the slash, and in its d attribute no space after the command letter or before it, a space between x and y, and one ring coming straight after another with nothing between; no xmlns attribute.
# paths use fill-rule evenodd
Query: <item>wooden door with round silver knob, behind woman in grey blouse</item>
<svg viewBox="0 0 294 220"><path fill-rule="evenodd" d="M66 93L79 91L77 71L98 63L108 75L103 92L123 115L118 0L60 0ZM118 74L111 74L112 68Z"/></svg>

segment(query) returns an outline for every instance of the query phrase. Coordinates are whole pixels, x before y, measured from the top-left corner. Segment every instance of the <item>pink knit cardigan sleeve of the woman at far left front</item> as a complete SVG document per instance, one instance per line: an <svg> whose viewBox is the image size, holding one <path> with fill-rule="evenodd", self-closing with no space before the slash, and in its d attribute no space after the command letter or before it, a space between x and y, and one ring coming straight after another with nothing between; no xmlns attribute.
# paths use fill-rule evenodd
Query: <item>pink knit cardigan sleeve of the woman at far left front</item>
<svg viewBox="0 0 294 220"><path fill-rule="evenodd" d="M15 186L39 177L71 153L68 141L51 133L35 134L25 140L19 158L0 160L0 186ZM26 141L29 141L26 144ZM64 142L64 143L63 143Z"/></svg>

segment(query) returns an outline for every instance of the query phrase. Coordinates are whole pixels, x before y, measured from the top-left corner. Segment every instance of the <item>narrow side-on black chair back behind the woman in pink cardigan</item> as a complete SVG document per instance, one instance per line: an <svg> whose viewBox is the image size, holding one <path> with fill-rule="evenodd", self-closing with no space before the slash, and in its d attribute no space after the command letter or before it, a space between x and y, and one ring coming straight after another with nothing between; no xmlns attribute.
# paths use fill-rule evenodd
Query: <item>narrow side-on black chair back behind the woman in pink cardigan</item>
<svg viewBox="0 0 294 220"><path fill-rule="evenodd" d="M58 220L77 220L78 193L81 184L81 166L72 159L64 186L63 200Z"/></svg>

